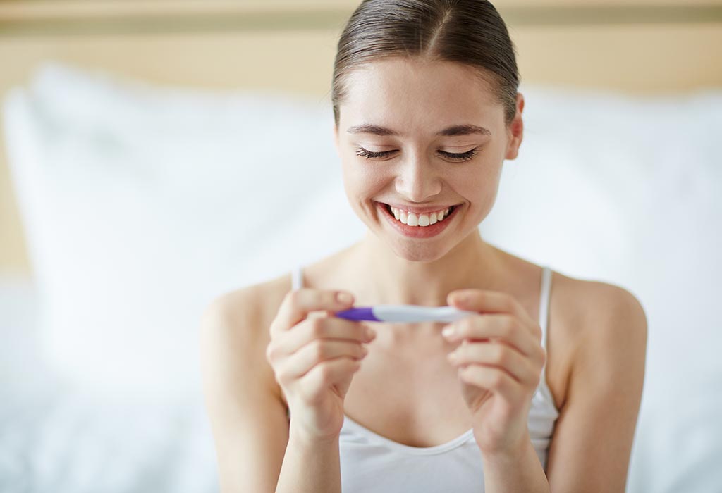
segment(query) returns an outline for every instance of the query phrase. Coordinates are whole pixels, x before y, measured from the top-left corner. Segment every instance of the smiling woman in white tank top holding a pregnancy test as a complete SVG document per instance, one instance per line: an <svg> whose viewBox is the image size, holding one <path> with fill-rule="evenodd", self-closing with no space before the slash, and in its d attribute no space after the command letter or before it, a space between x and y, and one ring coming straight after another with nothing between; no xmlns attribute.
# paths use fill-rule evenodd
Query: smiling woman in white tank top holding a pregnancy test
<svg viewBox="0 0 722 493"><path fill-rule="evenodd" d="M207 309L204 392L222 491L625 489L643 308L627 290L552 272L479 233L521 145L517 89L513 44L488 1L357 8L332 101L345 190L367 235ZM476 314L334 316L388 303Z"/></svg>

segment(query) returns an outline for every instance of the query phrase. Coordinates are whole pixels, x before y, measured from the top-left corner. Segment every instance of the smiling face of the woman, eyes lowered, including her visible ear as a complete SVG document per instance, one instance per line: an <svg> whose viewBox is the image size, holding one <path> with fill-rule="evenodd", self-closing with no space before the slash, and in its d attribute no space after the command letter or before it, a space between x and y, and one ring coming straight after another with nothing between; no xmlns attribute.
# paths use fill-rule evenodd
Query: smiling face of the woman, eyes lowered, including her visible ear
<svg viewBox="0 0 722 493"><path fill-rule="evenodd" d="M406 58L356 68L346 88L335 138L349 203L399 257L443 257L494 205L521 143L523 97L507 127L474 68Z"/></svg>

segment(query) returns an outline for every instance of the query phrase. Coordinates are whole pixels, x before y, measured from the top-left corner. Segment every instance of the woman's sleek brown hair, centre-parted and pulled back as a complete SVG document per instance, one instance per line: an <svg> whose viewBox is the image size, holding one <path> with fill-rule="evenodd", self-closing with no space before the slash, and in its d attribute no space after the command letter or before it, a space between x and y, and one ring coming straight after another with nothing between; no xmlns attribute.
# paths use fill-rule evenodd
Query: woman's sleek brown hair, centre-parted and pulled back
<svg viewBox="0 0 722 493"><path fill-rule="evenodd" d="M490 81L505 122L516 115L519 74L504 20L488 0L363 0L347 22L336 51L331 103L339 125L344 76L392 56L455 61Z"/></svg>

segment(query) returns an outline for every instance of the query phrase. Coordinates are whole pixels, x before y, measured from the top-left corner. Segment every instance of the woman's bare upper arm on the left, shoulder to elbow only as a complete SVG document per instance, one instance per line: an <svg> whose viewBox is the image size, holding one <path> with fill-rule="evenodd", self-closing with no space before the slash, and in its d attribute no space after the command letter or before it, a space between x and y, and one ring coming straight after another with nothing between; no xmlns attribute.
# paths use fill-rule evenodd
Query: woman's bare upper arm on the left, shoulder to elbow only
<svg viewBox="0 0 722 493"><path fill-rule="evenodd" d="M201 321L204 401L223 493L274 492L288 442L258 301L251 288L228 293Z"/></svg>

